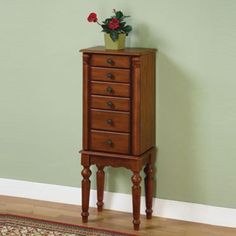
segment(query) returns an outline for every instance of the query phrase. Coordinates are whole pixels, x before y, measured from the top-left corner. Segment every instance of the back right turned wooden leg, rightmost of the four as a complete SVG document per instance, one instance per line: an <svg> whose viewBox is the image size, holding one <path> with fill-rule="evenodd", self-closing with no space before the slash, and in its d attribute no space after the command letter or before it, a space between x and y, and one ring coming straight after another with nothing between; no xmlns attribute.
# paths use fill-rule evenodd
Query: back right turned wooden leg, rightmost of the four
<svg viewBox="0 0 236 236"><path fill-rule="evenodd" d="M146 218L152 218L152 197L153 197L153 170L152 164L148 163L144 168L145 177L145 197L146 197Z"/></svg>

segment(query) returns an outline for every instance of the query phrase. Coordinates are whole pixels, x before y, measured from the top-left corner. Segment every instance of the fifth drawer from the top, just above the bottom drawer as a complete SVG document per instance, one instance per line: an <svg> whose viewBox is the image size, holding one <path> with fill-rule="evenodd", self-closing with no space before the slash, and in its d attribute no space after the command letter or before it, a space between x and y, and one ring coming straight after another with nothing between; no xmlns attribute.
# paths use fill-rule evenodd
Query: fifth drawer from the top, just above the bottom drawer
<svg viewBox="0 0 236 236"><path fill-rule="evenodd" d="M128 112L91 110L91 128L118 132L130 131Z"/></svg>

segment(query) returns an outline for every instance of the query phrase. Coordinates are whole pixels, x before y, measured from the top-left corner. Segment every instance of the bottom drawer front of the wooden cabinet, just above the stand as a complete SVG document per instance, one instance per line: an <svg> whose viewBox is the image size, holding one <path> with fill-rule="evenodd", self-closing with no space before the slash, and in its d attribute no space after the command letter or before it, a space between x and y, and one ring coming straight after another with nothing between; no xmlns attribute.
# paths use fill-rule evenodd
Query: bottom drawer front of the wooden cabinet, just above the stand
<svg viewBox="0 0 236 236"><path fill-rule="evenodd" d="M91 130L90 149L94 151L129 154L130 135Z"/></svg>

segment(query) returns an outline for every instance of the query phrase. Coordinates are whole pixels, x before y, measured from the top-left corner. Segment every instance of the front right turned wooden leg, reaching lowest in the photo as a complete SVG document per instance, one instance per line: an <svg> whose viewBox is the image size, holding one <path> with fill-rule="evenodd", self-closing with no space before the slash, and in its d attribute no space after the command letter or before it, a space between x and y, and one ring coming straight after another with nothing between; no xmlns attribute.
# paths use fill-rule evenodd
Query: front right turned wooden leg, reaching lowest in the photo
<svg viewBox="0 0 236 236"><path fill-rule="evenodd" d="M141 199L141 187L140 182L142 180L139 172L134 172L131 178L133 182L132 198L133 198L133 224L134 230L139 230L140 225L140 199Z"/></svg>

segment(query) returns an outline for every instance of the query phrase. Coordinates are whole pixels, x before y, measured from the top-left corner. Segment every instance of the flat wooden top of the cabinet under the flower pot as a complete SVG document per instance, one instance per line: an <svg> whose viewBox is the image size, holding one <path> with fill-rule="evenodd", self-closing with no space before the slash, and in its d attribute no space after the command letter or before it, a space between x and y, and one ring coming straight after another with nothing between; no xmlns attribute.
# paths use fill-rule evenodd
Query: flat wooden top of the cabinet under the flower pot
<svg viewBox="0 0 236 236"><path fill-rule="evenodd" d="M141 56L150 53L156 53L155 48L125 48L122 50L107 50L103 46L96 46L91 48L81 49L83 53L95 53L95 54L114 54L114 55L129 55L129 56Z"/></svg>

